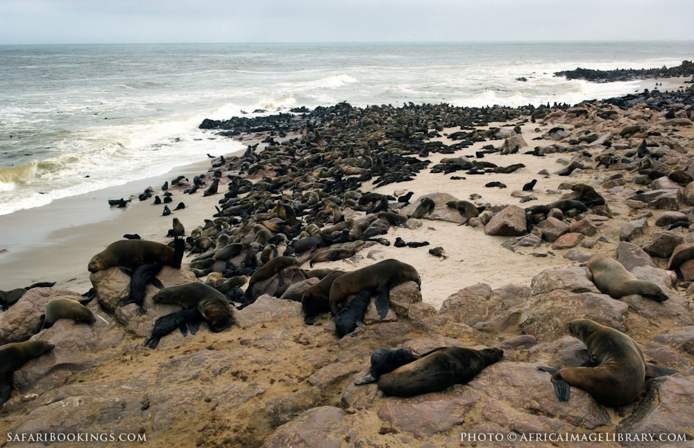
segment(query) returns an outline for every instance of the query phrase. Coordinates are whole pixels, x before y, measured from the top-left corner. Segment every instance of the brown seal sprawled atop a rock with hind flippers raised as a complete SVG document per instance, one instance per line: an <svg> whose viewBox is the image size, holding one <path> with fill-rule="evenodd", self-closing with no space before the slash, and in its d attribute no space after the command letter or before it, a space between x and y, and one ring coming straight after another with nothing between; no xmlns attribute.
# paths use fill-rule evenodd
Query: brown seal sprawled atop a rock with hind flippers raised
<svg viewBox="0 0 694 448"><path fill-rule="evenodd" d="M89 272L101 271L109 267L122 266L137 269L145 263L158 261L167 266L180 268L180 260L183 258L185 242L176 238L174 247L169 247L160 242L147 240L120 240L113 242L92 257L87 265Z"/></svg>

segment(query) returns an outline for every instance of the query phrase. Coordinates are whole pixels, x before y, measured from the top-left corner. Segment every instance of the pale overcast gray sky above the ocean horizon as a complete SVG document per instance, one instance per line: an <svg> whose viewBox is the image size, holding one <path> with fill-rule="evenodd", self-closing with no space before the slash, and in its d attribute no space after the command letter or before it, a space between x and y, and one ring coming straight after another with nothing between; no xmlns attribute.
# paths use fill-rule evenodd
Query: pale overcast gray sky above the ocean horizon
<svg viewBox="0 0 694 448"><path fill-rule="evenodd" d="M0 0L0 44L691 40L693 0Z"/></svg>

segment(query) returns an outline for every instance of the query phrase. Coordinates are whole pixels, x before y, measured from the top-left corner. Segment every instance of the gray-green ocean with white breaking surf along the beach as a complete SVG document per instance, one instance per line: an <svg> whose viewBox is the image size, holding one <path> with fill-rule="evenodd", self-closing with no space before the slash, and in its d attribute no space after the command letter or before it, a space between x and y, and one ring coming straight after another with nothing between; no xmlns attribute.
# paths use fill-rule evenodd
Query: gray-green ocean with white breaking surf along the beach
<svg viewBox="0 0 694 448"><path fill-rule="evenodd" d="M198 129L205 118L339 101L577 103L636 83L553 72L692 58L694 42L0 46L0 215L243 149Z"/></svg>

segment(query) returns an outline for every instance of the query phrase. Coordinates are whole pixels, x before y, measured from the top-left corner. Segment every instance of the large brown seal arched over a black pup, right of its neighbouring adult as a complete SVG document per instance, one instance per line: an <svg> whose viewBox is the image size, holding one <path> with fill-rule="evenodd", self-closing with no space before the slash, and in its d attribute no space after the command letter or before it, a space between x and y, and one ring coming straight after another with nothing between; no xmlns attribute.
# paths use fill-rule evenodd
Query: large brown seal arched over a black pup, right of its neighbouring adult
<svg viewBox="0 0 694 448"><path fill-rule="evenodd" d="M348 272L332 283L330 310L337 315L350 295L369 290L375 293L376 310L382 319L388 313L390 289L409 280L422 284L417 269L393 258Z"/></svg>

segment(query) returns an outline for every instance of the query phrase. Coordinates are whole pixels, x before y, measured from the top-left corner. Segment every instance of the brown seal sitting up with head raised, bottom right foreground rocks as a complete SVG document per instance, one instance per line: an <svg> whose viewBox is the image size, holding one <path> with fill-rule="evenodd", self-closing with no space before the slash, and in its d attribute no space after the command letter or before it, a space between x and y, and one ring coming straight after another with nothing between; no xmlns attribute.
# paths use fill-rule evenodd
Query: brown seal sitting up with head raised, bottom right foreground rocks
<svg viewBox="0 0 694 448"><path fill-rule="evenodd" d="M621 331L600 325L589 319L575 319L569 331L580 339L591 354L582 367L552 369L552 383L561 401L569 398L569 385L593 395L607 406L625 406L641 395L646 376L674 374L675 371L647 365L641 347ZM590 367L589 367L590 366Z"/></svg>

